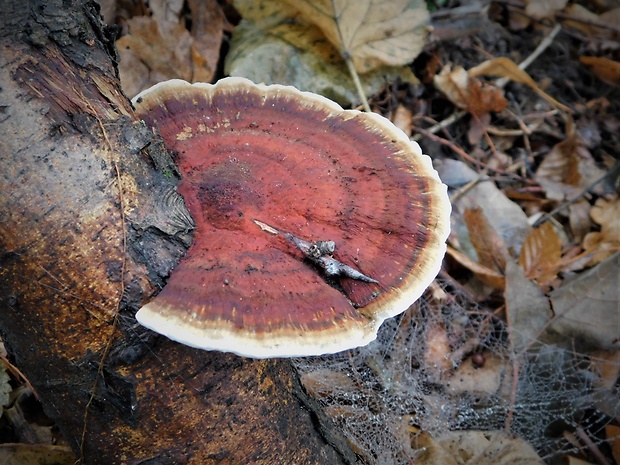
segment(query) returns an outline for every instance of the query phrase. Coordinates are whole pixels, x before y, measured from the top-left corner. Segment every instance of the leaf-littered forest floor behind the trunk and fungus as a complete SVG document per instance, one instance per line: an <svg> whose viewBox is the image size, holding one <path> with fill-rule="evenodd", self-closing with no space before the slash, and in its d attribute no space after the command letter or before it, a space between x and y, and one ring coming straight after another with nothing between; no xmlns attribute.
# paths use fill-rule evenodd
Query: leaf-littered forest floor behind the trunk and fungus
<svg viewBox="0 0 620 465"><path fill-rule="evenodd" d="M198 3L103 2L129 97L253 66L225 63L247 6ZM620 8L429 3L434 29L403 63L419 81L399 69L365 89L449 187L444 266L369 348L297 360L302 382L361 463L620 463ZM260 72L245 77L286 74ZM9 368L0 442L62 444Z"/></svg>

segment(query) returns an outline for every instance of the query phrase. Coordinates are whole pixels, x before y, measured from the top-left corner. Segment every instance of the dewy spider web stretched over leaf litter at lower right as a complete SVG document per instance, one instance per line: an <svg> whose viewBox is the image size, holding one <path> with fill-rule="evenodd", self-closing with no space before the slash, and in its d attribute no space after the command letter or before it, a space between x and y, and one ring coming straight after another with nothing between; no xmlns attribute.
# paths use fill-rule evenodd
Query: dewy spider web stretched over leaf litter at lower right
<svg viewBox="0 0 620 465"><path fill-rule="evenodd" d="M422 437L472 430L521 438L550 464L587 453L588 443L605 447L620 396L601 370L617 360L541 342L516 354L502 320L462 295L443 295L386 321L366 347L294 360L307 392L363 463L445 463L429 460L433 448ZM454 463L535 463L514 455Z"/></svg>

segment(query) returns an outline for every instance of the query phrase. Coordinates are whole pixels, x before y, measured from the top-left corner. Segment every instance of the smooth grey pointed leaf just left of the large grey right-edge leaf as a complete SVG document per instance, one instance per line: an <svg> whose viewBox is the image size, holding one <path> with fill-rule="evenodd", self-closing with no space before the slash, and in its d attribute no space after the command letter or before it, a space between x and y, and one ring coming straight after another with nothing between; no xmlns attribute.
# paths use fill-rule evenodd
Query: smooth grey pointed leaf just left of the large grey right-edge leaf
<svg viewBox="0 0 620 465"><path fill-rule="evenodd" d="M520 351L538 339L545 324L551 319L549 300L512 260L506 265L504 299L512 345L516 351Z"/></svg>

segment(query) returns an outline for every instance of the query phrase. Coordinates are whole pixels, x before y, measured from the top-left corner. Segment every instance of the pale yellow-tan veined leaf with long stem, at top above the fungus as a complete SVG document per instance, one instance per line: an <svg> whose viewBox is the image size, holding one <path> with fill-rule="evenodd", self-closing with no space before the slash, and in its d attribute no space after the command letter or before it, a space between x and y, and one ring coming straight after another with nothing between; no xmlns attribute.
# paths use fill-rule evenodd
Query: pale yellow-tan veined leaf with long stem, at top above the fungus
<svg viewBox="0 0 620 465"><path fill-rule="evenodd" d="M429 19L422 0L283 0L350 57L359 73L402 66L422 51Z"/></svg>

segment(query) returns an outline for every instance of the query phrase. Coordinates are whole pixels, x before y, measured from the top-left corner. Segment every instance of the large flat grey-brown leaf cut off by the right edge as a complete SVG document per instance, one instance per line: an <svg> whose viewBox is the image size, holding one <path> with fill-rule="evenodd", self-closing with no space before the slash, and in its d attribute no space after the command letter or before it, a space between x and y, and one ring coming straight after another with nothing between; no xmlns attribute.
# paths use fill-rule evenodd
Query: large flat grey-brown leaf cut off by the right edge
<svg viewBox="0 0 620 465"><path fill-rule="evenodd" d="M604 350L620 348L619 265L616 253L549 294L555 318L547 331L559 334L558 342L571 350L573 340Z"/></svg>

